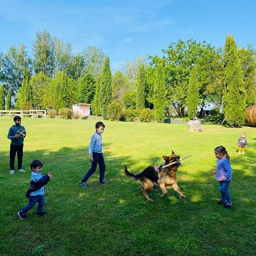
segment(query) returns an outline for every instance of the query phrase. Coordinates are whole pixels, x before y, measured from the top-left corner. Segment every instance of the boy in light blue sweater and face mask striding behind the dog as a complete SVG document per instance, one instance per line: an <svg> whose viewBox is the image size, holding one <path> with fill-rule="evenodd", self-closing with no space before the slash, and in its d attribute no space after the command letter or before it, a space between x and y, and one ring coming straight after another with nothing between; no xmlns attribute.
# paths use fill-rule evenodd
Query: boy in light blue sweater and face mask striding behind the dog
<svg viewBox="0 0 256 256"><path fill-rule="evenodd" d="M92 166L86 172L85 176L79 181L79 184L82 188L87 187L86 181L96 171L97 164L100 168L100 184L105 184L105 185L109 184L108 181L104 180L106 166L105 166L104 157L102 154L101 134L104 131L105 125L102 122L97 122L95 125L95 128L96 128L96 131L92 135L92 138L90 139L90 146L89 146L90 162L92 163Z"/></svg>

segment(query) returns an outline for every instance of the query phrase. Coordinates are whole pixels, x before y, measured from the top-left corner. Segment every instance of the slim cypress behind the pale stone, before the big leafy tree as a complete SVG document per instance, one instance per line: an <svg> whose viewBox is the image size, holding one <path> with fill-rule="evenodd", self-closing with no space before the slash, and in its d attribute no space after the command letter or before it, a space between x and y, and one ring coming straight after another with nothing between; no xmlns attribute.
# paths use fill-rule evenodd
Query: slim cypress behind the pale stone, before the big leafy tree
<svg viewBox="0 0 256 256"><path fill-rule="evenodd" d="M195 117L197 114L197 105L199 104L199 79L197 67L194 66L191 71L191 76L188 83L188 117Z"/></svg>

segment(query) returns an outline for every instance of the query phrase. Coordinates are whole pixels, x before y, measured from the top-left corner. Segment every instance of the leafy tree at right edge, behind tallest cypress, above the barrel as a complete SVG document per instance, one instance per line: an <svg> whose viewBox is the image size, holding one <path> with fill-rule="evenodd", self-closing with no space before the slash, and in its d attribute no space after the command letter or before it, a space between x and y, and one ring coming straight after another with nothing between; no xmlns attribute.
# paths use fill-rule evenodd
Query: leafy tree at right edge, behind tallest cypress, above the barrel
<svg viewBox="0 0 256 256"><path fill-rule="evenodd" d="M243 73L243 85L246 91L246 106L255 104L256 101L256 51L250 45L248 48L240 48L238 56Z"/></svg>

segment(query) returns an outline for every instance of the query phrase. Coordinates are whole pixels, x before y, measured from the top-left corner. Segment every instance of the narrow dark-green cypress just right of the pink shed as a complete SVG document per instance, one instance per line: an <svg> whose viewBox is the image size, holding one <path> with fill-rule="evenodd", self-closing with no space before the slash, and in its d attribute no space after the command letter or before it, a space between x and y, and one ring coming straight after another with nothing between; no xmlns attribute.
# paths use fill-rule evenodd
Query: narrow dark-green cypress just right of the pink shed
<svg viewBox="0 0 256 256"><path fill-rule="evenodd" d="M102 68L102 84L100 88L100 110L104 119L107 118L107 107L112 101L112 75L109 64L109 56L105 57Z"/></svg>

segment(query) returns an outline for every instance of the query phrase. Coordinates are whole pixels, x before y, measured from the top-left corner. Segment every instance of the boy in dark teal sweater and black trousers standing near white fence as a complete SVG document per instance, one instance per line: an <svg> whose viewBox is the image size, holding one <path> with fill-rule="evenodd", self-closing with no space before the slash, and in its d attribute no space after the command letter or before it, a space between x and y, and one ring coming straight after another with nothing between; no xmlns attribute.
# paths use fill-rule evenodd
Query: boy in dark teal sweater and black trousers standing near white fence
<svg viewBox="0 0 256 256"><path fill-rule="evenodd" d="M14 125L10 127L7 138L11 140L10 145L10 174L14 174L14 162L17 153L18 158L18 170L19 172L25 172L22 169L22 157L23 157L23 144L26 137L25 127L20 125L21 117L15 115L13 118Z"/></svg>

